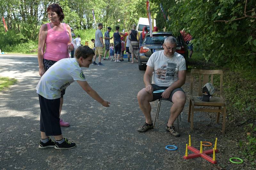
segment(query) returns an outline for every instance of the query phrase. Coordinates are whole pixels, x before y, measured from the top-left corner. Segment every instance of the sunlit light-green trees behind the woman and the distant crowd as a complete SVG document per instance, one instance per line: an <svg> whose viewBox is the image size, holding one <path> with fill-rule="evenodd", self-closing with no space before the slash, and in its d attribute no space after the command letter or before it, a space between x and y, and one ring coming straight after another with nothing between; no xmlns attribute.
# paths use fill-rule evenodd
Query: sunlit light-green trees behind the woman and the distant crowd
<svg viewBox="0 0 256 170"><path fill-rule="evenodd" d="M8 30L22 34L28 42L29 39L37 40L40 25L49 22L46 9L53 3L60 4L65 15L63 22L75 29L96 28L101 22L105 29L107 26L114 28L119 25L121 29L128 30L141 15L139 9L142 0L0 0L0 14L5 18ZM11 32L4 33L4 29L1 29L0 34L1 37L10 37L9 34L13 35ZM15 43L18 42L9 45Z"/></svg>

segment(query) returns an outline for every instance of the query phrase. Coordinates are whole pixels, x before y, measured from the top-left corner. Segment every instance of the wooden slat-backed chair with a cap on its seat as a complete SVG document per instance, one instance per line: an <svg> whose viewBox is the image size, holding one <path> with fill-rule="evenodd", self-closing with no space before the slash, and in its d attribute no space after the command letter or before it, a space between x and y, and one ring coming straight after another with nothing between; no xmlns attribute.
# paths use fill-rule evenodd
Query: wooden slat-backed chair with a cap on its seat
<svg viewBox="0 0 256 170"><path fill-rule="evenodd" d="M199 74L198 96L203 96L202 89L203 89L204 84L209 82L209 76L211 75L210 82L213 84L213 75L219 74L220 75L220 97L215 96L216 90L209 102L203 102L202 100L198 99L197 96L193 96L193 81L194 81L195 74L196 75ZM203 78L203 82L202 82L202 78ZM222 97L222 90L223 90L222 89L222 84L223 84L222 79L223 79L222 70L199 70L199 69L191 70L190 99L189 99L189 110L188 110L188 122L190 122L190 113L191 113L190 131L193 131L194 111L202 111L202 112L217 112L216 123L219 123L220 113L222 113L223 114L222 134L225 133L226 103L225 103L225 99L223 99L223 97ZM195 108L195 106L204 106L204 108L202 108L202 107ZM207 106L207 108L205 108L206 106Z"/></svg>

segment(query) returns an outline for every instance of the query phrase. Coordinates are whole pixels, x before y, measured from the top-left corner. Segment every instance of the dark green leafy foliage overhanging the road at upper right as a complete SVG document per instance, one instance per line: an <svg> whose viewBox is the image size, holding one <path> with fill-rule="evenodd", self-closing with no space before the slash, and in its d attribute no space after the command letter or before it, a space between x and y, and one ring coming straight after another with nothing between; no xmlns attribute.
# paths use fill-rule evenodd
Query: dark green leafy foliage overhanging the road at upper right
<svg viewBox="0 0 256 170"><path fill-rule="evenodd" d="M153 0L163 4L166 21L159 8L160 28L179 32L185 29L194 39L196 51L216 64L256 64L256 4L254 0ZM244 17L244 12L248 16ZM237 20L235 20L237 19ZM220 22L214 22L222 20ZM228 20L233 20L225 22Z"/></svg>

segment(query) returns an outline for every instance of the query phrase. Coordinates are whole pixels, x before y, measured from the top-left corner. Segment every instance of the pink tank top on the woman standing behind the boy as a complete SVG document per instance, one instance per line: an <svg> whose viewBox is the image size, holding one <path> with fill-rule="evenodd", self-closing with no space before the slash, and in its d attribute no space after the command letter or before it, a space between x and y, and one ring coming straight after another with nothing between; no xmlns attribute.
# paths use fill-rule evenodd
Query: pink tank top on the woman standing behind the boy
<svg viewBox="0 0 256 170"><path fill-rule="evenodd" d="M59 61L64 58L69 58L68 55L68 32L65 24L61 23L64 27L63 31L54 31L50 25L47 23L47 36L45 41L45 53L44 59Z"/></svg>

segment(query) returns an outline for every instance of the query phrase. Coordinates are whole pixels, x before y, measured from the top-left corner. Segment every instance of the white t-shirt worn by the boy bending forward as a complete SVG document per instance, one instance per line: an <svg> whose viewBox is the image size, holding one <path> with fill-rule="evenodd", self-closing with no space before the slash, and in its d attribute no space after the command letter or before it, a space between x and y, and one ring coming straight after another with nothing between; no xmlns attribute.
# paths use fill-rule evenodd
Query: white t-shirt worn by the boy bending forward
<svg viewBox="0 0 256 170"><path fill-rule="evenodd" d="M60 91L76 80L86 81L76 58L61 59L41 77L36 93L46 99L57 99L60 98Z"/></svg>

